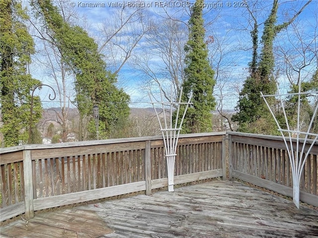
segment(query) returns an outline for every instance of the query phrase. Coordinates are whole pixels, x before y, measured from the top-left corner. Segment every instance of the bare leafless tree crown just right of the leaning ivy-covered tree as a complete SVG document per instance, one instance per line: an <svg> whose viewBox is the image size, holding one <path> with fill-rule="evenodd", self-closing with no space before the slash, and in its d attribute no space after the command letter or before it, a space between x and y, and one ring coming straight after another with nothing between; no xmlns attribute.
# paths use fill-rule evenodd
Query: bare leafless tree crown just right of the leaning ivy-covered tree
<svg viewBox="0 0 318 238"><path fill-rule="evenodd" d="M147 7L116 7L101 29L98 53L103 54L107 67L119 73L153 27Z"/></svg>

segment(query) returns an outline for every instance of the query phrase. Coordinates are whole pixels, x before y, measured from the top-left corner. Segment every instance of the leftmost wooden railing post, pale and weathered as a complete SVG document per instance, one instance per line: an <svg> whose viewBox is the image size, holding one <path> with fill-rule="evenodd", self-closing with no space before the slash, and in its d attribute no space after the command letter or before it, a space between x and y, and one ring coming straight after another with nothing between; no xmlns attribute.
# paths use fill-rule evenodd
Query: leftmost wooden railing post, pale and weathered
<svg viewBox="0 0 318 238"><path fill-rule="evenodd" d="M24 205L25 218L34 217L33 207L33 171L31 150L23 150Z"/></svg>

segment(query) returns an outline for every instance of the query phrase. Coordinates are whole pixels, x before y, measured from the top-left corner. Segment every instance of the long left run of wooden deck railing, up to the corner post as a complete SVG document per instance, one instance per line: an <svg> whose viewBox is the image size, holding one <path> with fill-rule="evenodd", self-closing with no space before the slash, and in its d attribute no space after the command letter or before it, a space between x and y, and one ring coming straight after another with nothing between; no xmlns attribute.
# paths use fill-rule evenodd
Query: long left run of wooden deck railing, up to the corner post
<svg viewBox="0 0 318 238"><path fill-rule="evenodd" d="M226 176L226 133L180 135L174 184ZM0 151L0 220L167 186L163 140L139 137Z"/></svg>

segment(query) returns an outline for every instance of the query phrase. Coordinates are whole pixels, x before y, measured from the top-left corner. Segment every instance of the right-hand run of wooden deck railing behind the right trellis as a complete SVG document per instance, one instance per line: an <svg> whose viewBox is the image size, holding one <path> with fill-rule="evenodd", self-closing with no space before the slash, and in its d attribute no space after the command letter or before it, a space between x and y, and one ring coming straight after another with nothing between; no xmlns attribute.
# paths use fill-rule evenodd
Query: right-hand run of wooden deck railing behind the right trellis
<svg viewBox="0 0 318 238"><path fill-rule="evenodd" d="M282 137L239 132L228 132L228 136L230 179L240 179L282 195L293 196L293 177ZM318 142L305 163L300 186L300 200L318 207L317 162Z"/></svg>

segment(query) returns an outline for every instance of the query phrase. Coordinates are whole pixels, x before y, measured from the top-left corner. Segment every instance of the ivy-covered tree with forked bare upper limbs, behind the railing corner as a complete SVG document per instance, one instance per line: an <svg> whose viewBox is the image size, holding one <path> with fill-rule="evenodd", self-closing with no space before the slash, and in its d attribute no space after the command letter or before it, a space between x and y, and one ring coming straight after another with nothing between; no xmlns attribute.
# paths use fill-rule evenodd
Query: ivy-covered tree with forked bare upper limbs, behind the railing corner
<svg viewBox="0 0 318 238"><path fill-rule="evenodd" d="M251 32L253 43L252 61L249 64L249 76L245 80L243 88L239 93L239 102L236 107L238 113L232 117L234 121L239 122L239 131L252 133L278 133L274 120L269 114L267 107L260 97L260 92L264 95L275 94L276 78L274 77L275 59L273 53L273 42L278 33L286 29L296 17L311 2L309 0L304 6L288 21L281 24L277 23L277 11L279 7L278 0L273 0L270 14L264 22L263 34L261 37L261 53L259 61L257 57L257 20L254 18L254 28ZM251 11L249 11L250 14ZM274 99L269 100L269 104L275 104ZM257 121L261 122L261 126L257 125Z"/></svg>

